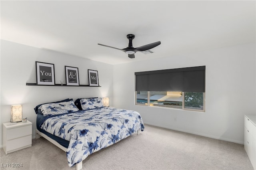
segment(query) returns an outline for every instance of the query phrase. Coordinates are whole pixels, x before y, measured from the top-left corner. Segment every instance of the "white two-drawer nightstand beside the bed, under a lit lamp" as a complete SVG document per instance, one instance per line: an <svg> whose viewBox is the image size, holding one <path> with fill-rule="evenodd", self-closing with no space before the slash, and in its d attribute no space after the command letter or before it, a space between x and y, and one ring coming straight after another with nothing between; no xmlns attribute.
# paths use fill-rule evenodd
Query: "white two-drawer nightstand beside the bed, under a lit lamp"
<svg viewBox="0 0 256 170"><path fill-rule="evenodd" d="M3 123L3 149L6 154L32 145L32 123Z"/></svg>

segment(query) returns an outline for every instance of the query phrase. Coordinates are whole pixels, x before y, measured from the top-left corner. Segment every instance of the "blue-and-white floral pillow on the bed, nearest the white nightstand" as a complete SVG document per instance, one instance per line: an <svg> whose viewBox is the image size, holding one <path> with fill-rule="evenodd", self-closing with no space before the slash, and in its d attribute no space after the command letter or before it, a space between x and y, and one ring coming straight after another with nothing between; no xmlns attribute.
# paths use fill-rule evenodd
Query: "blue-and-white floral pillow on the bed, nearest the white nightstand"
<svg viewBox="0 0 256 170"><path fill-rule="evenodd" d="M62 113L72 113L78 111L74 101L47 103L39 107L44 116L59 115Z"/></svg>

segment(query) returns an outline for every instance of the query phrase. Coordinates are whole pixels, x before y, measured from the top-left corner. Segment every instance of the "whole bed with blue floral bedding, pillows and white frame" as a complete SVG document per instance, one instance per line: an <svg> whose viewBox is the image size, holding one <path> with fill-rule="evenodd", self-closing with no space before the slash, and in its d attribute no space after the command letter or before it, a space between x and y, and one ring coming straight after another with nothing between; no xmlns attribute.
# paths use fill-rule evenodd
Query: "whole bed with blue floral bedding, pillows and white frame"
<svg viewBox="0 0 256 170"><path fill-rule="evenodd" d="M102 98L82 98L35 107L36 136L66 151L68 166L82 169L90 154L144 130L136 111L103 107Z"/></svg>

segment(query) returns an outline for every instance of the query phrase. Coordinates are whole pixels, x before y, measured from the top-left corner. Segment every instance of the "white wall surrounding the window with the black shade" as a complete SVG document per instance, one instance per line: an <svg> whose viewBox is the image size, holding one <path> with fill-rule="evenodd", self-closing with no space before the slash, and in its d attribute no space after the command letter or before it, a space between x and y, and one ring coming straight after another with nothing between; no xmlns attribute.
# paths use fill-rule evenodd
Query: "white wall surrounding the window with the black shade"
<svg viewBox="0 0 256 170"><path fill-rule="evenodd" d="M243 144L244 115L256 114L255 51L255 44L246 44L114 65L114 106L138 111L146 124ZM134 72L201 65L205 113L134 105Z"/></svg>

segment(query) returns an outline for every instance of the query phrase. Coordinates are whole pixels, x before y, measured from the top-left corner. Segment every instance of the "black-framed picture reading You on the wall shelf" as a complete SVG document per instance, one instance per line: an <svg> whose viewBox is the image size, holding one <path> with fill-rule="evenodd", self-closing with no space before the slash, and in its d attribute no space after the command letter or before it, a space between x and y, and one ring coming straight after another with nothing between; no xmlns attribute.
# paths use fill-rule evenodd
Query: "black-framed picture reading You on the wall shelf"
<svg viewBox="0 0 256 170"><path fill-rule="evenodd" d="M36 61L36 84L55 85L54 64Z"/></svg>

